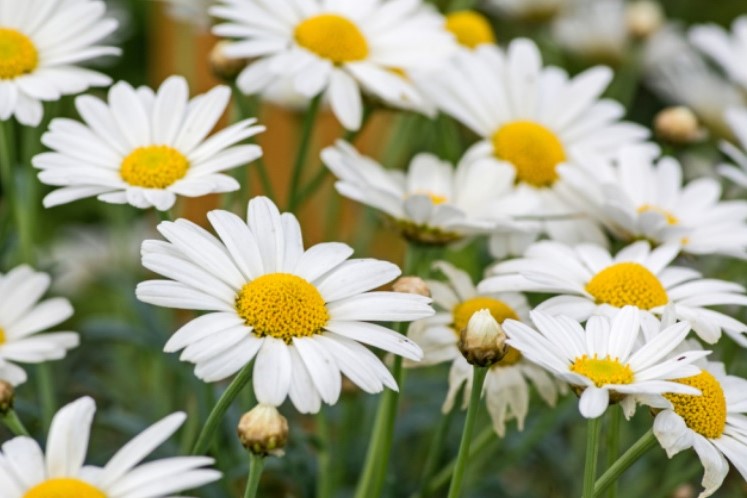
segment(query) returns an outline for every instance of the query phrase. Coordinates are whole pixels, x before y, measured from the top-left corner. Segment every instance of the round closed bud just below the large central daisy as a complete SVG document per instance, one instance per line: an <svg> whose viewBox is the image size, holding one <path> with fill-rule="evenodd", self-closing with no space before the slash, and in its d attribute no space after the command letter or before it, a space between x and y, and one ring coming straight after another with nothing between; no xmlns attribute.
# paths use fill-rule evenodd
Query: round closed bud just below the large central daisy
<svg viewBox="0 0 747 498"><path fill-rule="evenodd" d="M259 404L241 417L237 432L244 448L255 455L282 456L288 420L274 406Z"/></svg>

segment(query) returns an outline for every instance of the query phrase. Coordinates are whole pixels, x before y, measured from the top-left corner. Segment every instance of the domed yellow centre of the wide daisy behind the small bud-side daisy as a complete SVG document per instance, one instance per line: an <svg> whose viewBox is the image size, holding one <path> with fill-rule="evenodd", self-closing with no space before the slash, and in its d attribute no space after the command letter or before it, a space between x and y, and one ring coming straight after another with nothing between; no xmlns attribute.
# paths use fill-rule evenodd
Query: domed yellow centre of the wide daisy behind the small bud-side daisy
<svg viewBox="0 0 747 498"><path fill-rule="evenodd" d="M669 302L656 275L638 263L617 263L600 271L586 284L598 304L626 305L650 310Z"/></svg>

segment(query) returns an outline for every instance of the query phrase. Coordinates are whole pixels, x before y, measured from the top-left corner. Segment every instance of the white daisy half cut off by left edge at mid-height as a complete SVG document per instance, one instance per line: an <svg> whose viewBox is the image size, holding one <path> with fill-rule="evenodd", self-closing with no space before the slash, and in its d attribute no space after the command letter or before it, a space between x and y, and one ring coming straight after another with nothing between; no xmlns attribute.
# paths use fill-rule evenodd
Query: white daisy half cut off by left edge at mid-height
<svg viewBox="0 0 747 498"><path fill-rule="evenodd" d="M0 380L21 384L26 381L26 372L14 362L59 360L78 345L75 332L39 334L73 314L67 299L39 302L49 284L49 275L26 265L0 274Z"/></svg>

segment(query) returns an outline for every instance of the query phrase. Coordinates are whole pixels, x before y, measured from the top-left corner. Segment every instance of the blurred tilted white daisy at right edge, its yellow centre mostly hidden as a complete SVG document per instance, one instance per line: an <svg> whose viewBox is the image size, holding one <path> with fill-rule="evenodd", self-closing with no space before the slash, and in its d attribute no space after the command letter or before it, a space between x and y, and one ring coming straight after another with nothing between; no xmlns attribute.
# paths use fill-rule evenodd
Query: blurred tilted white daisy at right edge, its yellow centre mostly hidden
<svg viewBox="0 0 747 498"><path fill-rule="evenodd" d="M604 179L572 170L563 175L590 215L620 240L676 242L691 254L747 257L747 202L721 201L721 184L713 178L683 185L680 163L673 157L656 161L658 153L627 147Z"/></svg>

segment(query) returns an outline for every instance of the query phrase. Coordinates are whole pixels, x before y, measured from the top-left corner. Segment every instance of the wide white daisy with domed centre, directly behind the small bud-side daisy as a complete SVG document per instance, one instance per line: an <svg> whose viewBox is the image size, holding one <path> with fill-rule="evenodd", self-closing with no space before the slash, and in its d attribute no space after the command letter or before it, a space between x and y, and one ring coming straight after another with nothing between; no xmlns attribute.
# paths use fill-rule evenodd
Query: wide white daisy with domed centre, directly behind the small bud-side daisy
<svg viewBox="0 0 747 498"><path fill-rule="evenodd" d="M621 249L613 258L595 244L569 246L553 241L533 244L520 259L496 264L483 280L481 292L531 291L558 294L543 301L537 310L568 315L584 321L593 315L614 315L624 306L642 313L664 314L670 305L678 320L692 324L709 344L723 329L747 347L747 325L709 309L710 306L747 306L744 287L717 279L704 279L690 268L670 266L680 252L679 244L656 249L639 241Z"/></svg>

